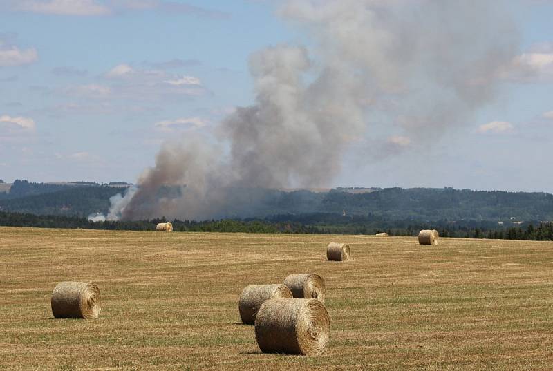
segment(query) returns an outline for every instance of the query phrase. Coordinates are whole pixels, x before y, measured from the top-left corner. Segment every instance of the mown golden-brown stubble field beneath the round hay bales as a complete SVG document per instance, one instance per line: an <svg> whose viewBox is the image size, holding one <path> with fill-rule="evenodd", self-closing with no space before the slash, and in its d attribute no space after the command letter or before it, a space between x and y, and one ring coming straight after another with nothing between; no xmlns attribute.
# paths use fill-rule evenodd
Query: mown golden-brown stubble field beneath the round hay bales
<svg viewBox="0 0 553 371"><path fill-rule="evenodd" d="M328 348L260 354L238 295L301 272L326 280ZM53 319L63 280L100 286L100 318ZM0 369L550 370L552 293L552 242L0 227Z"/></svg>

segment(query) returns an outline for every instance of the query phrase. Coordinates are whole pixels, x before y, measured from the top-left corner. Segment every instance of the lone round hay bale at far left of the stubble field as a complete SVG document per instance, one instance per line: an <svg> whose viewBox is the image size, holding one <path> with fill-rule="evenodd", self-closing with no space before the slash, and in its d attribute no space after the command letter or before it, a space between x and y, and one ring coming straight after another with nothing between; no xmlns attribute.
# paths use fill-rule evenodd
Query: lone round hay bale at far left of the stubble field
<svg viewBox="0 0 553 371"><path fill-rule="evenodd" d="M102 309L100 288L92 282L58 283L51 302L55 318L98 318Z"/></svg>

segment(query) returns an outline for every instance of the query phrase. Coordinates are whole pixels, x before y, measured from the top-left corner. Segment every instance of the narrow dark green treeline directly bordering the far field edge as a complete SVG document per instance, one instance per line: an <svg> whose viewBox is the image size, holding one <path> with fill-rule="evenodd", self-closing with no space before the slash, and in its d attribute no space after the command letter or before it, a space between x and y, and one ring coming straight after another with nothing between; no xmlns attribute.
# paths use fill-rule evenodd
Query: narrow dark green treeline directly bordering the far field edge
<svg viewBox="0 0 553 371"><path fill-rule="evenodd" d="M155 231L165 219L92 222L77 216L38 216L0 211L0 225L11 227L117 229ZM383 220L378 217L344 218L339 214L276 216L260 220L173 220L174 231L244 232L285 234L376 234L416 236L421 229L437 229L442 237L494 238L508 240L553 240L553 222L528 222L522 227L504 227L493 222L413 222Z"/></svg>

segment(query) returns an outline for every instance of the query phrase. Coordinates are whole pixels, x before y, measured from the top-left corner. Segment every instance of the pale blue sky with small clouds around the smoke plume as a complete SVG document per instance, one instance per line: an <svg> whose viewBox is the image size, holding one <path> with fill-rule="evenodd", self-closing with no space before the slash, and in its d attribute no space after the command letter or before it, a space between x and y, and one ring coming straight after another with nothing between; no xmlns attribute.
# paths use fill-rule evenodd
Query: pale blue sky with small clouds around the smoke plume
<svg viewBox="0 0 553 371"><path fill-rule="evenodd" d="M339 169L312 187L553 193L553 1L495 4L516 30L505 66L520 70L439 135L368 112ZM252 53L283 44L317 49L279 1L1 0L0 179L135 182L165 142L221 135L256 99Z"/></svg>

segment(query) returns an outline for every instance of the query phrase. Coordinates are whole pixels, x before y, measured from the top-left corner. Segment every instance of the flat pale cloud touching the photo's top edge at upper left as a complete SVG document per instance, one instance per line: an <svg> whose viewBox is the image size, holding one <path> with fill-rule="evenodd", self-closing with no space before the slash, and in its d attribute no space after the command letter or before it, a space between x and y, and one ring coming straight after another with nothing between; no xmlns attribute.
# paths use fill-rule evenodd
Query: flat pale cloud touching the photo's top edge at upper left
<svg viewBox="0 0 553 371"><path fill-rule="evenodd" d="M111 9L95 0L20 0L15 10L51 15L109 15Z"/></svg>

